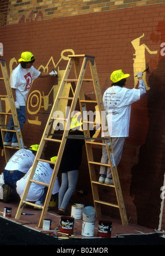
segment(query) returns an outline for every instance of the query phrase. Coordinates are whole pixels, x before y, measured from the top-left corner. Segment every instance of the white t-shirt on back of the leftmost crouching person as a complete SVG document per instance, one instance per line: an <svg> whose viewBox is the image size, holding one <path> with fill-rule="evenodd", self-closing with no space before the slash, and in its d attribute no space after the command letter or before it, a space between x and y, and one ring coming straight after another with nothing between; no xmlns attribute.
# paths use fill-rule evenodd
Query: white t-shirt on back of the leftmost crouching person
<svg viewBox="0 0 165 256"><path fill-rule="evenodd" d="M32 166L35 159L34 153L31 150L21 149L15 152L9 159L5 170L19 170L22 173L26 173Z"/></svg>

